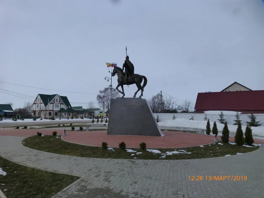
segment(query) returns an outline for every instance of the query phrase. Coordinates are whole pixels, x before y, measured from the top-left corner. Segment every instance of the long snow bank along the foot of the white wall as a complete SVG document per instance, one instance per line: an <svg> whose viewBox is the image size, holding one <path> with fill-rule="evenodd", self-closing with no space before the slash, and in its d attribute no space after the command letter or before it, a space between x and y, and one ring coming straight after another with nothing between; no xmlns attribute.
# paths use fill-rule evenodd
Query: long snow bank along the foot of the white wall
<svg viewBox="0 0 264 198"><path fill-rule="evenodd" d="M175 120L166 120L164 122L158 122L159 126L168 126L168 127L185 127L193 129L206 129L207 121L197 121L197 120L186 120L183 118L178 118ZM211 129L213 128L214 122L210 122ZM218 131L222 131L224 124L216 123ZM228 124L228 129L231 133L235 133L237 130L237 125ZM251 127L252 135L264 137L264 126ZM245 132L246 126L242 125L242 130Z"/></svg>

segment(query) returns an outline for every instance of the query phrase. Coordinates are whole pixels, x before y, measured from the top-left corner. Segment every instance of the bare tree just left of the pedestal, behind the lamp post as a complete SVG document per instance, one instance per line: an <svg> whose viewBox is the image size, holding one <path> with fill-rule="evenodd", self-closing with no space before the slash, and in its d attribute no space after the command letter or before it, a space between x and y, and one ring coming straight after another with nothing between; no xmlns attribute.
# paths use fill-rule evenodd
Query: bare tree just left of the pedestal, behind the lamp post
<svg viewBox="0 0 264 198"><path fill-rule="evenodd" d="M112 89L112 98L120 97L119 92L116 89ZM107 110L110 109L110 87L106 87L103 90L99 91L99 94L96 97L96 100L99 102L99 105L103 107L103 103Z"/></svg>

